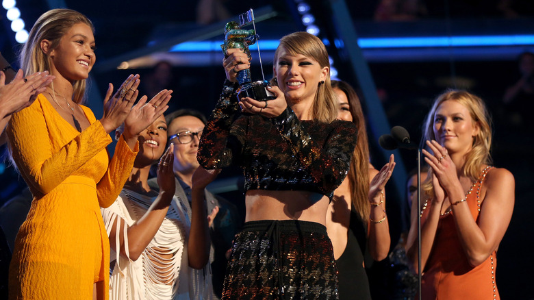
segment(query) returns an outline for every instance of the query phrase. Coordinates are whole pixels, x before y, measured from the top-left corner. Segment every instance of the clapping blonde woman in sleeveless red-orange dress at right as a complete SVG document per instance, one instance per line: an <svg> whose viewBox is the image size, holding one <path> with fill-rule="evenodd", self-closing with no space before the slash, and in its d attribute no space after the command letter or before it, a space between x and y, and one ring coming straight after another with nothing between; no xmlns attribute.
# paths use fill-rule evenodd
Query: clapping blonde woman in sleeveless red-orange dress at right
<svg viewBox="0 0 534 300"><path fill-rule="evenodd" d="M428 151L422 152L431 170L421 210L422 299L500 299L496 254L510 223L515 182L505 168L489 166L485 104L463 90L444 92L424 130ZM417 241L407 248L417 269Z"/></svg>

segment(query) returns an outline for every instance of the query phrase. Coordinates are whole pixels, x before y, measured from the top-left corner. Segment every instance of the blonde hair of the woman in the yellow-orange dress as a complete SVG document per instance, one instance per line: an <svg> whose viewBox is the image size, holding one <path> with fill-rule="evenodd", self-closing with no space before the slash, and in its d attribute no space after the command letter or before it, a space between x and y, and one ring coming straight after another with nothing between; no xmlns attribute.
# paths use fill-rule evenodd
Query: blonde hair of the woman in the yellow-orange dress
<svg viewBox="0 0 534 300"><path fill-rule="evenodd" d="M51 48L55 49L60 44L61 38L71 27L78 23L88 25L94 33L94 26L89 18L75 10L55 9L42 14L34 27L31 27L26 44L21 49L19 63L25 74L50 71L50 56L45 54L41 47L42 40L49 40ZM53 88L53 86L52 86ZM74 83L73 101L81 103L86 91L86 80L77 80Z"/></svg>

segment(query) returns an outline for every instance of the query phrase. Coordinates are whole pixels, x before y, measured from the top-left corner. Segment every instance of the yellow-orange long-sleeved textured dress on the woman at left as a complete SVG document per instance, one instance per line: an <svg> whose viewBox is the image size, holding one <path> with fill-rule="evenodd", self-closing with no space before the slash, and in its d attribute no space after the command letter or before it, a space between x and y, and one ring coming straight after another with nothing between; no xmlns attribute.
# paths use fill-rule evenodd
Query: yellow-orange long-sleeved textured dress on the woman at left
<svg viewBox="0 0 534 300"><path fill-rule="evenodd" d="M100 206L107 207L129 177L138 145L112 142L91 110L78 132L39 95L7 128L12 157L34 200L15 240L10 299L92 299L104 281L108 299L110 244Z"/></svg>

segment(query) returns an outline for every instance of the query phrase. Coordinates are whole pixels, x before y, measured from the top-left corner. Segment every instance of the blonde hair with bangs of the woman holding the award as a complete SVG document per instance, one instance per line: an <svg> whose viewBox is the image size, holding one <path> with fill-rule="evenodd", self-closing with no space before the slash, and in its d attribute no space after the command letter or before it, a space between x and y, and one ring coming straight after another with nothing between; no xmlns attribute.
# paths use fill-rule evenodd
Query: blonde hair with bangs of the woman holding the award
<svg viewBox="0 0 534 300"><path fill-rule="evenodd" d="M294 32L288 34L280 39L280 45L275 51L275 60L273 65L278 64L278 55L281 49L285 49L290 55L304 55L308 58L316 60L321 68L327 66L330 69L330 60L328 59L328 52L325 44L307 32ZM272 84L277 84L274 80ZM331 83L330 72L327 74L324 83L319 83L315 95L314 103L312 103L312 118L316 121L331 123L338 117L338 100L335 97Z"/></svg>

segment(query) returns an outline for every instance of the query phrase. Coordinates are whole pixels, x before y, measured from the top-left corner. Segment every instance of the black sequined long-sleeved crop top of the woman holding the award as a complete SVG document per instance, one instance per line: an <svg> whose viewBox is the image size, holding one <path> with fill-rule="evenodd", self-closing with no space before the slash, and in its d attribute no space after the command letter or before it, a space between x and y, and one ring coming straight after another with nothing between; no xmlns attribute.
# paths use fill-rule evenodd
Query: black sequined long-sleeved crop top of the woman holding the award
<svg viewBox="0 0 534 300"><path fill-rule="evenodd" d="M244 116L237 88L225 82L202 134L201 166L240 166L245 190L306 190L331 197L348 172L356 126L299 121L290 108L275 118Z"/></svg>

